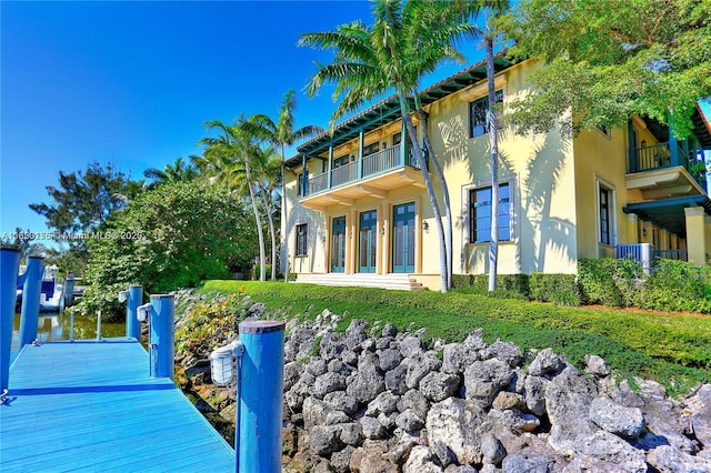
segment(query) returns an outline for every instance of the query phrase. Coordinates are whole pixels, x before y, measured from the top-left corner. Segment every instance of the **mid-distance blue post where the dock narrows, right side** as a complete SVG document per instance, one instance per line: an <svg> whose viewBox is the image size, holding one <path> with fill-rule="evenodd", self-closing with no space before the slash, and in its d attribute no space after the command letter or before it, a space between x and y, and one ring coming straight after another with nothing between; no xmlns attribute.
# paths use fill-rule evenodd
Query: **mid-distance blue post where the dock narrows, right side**
<svg viewBox="0 0 711 473"><path fill-rule="evenodd" d="M151 294L149 352L151 378L173 379L173 295Z"/></svg>

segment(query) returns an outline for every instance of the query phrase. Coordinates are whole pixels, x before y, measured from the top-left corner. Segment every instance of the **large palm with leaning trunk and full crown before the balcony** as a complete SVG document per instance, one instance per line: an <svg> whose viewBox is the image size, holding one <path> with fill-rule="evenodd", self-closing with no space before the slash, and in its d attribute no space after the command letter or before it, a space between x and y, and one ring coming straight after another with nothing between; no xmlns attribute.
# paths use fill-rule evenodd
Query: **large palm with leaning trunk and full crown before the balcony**
<svg viewBox="0 0 711 473"><path fill-rule="evenodd" d="M336 51L333 63L320 66L319 71L311 78L309 92L313 94L324 83L336 84L334 100L341 94L343 97L333 113L334 121L394 89L410 141L417 143L408 95L417 92L420 78L434 70L443 59L461 58L452 44L462 34L474 31L473 26L461 20L461 14L453 10L453 7L460 8L460 2L402 3L400 0L377 0L371 27L361 21L353 21L338 27L334 32L303 34L300 44ZM447 21L433 21L434 19ZM427 28L423 28L424 24ZM427 130L424 134L427 135ZM440 239L441 286L442 292L447 292L451 285L451 236L445 235L423 152L415 145L413 153L434 214ZM430 152L430 159L434 162L437 157ZM438 165L439 163L435 164L435 169ZM445 188L443 174L439 178ZM451 215L449 209L448 215ZM451 222L451 218L449 221Z"/></svg>

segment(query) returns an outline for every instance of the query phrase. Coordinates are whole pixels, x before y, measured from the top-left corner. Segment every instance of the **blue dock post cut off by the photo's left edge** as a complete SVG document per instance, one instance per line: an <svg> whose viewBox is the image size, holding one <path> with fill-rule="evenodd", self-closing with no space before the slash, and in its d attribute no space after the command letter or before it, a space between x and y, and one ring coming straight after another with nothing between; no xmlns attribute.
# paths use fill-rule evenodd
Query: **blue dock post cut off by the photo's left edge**
<svg viewBox="0 0 711 473"><path fill-rule="evenodd" d="M19 269L20 250L0 249L0 395L8 389L10 379L10 349Z"/></svg>

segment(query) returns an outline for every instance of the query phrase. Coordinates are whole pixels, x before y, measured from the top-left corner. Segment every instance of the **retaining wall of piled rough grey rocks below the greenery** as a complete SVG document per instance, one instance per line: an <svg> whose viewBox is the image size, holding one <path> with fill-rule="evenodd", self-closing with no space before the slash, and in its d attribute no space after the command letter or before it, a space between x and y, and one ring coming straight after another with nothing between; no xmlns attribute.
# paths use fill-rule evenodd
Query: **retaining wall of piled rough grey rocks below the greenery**
<svg viewBox="0 0 711 473"><path fill-rule="evenodd" d="M711 472L709 384L679 403L615 384L595 355L580 372L480 332L428 350L389 323L336 322L289 326L284 472Z"/></svg>

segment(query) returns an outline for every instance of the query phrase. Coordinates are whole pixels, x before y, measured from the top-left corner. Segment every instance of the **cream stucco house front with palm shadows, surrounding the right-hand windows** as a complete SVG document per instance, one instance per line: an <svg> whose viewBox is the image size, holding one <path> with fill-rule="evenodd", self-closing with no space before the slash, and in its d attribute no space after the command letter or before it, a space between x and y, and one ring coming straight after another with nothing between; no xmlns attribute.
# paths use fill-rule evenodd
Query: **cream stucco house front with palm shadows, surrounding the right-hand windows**
<svg viewBox="0 0 711 473"><path fill-rule="evenodd" d="M531 61L497 76L507 104L528 93ZM430 137L444 168L454 217L454 273L488 271L489 244L469 243L469 191L491 183L489 134L469 138L469 102L487 93L485 81L428 107ZM558 130L521 137L499 131L499 178L513 192L512 241L499 246L499 273L575 272L577 238L572 145ZM435 262L435 261L434 261ZM425 265L432 268L434 262Z"/></svg>

